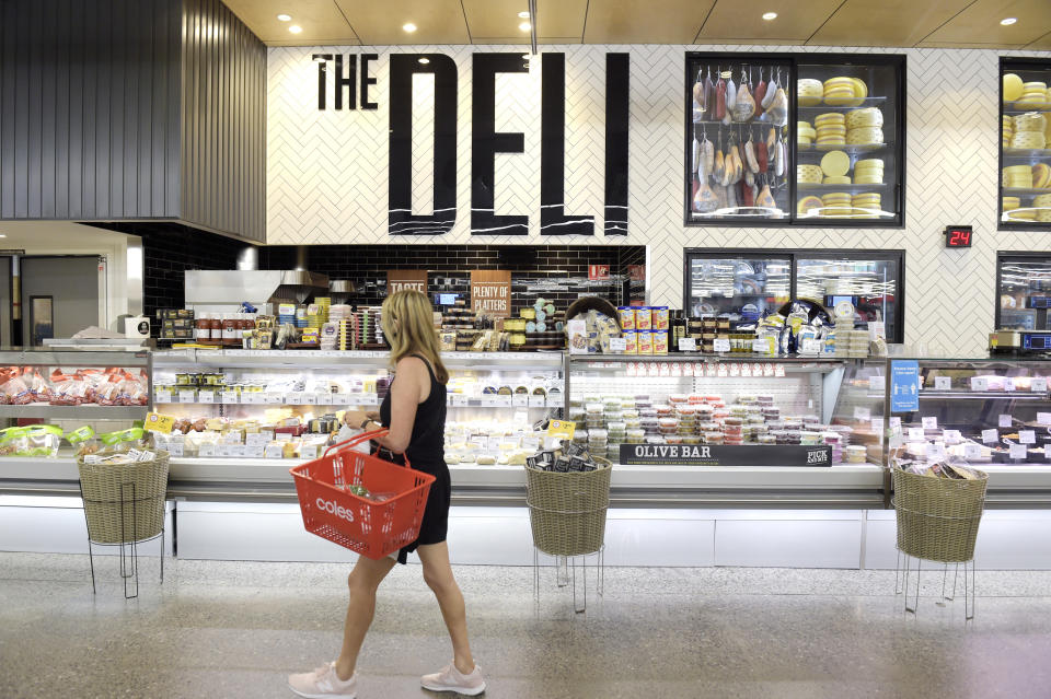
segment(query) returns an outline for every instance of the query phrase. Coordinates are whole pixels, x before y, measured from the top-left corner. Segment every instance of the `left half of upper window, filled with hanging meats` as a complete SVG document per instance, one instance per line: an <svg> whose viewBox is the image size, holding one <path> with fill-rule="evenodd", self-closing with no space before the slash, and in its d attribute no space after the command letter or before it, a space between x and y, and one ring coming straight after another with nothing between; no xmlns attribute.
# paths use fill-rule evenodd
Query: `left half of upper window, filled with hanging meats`
<svg viewBox="0 0 1051 699"><path fill-rule="evenodd" d="M787 218L792 62L688 54L686 78L686 222Z"/></svg>

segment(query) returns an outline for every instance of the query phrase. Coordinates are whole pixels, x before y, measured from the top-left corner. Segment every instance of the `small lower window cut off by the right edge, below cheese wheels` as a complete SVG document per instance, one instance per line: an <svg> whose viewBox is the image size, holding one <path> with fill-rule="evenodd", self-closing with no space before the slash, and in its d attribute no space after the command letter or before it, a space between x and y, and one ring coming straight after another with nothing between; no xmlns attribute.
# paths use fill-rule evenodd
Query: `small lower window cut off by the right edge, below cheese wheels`
<svg viewBox="0 0 1051 699"><path fill-rule="evenodd" d="M996 328L1051 330L1051 255L997 253Z"/></svg>

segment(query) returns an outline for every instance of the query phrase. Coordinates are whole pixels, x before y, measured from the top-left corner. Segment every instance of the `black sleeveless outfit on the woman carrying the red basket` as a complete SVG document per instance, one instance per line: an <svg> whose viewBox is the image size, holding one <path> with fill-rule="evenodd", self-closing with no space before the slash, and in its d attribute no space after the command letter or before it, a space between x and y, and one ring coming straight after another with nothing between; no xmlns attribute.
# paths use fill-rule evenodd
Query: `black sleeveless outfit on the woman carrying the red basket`
<svg viewBox="0 0 1051 699"><path fill-rule="evenodd" d="M424 510L424 520L419 527L419 538L402 548L397 555L397 562L405 563L409 554L418 546L441 544L446 540L449 528L449 503L452 497L452 484L449 477L449 467L446 465L446 385L439 383L430 363L419 354L412 354L427 366L430 375L430 393L427 399L416 407L416 421L413 423L413 433L408 440L409 465L416 470L435 476L427 497L427 508ZM395 377L394 381L397 381ZM393 386L393 382L391 382ZM391 427L391 394L388 392L380 405L380 423L384 428ZM396 454L384 454L395 463L404 464L404 459Z"/></svg>

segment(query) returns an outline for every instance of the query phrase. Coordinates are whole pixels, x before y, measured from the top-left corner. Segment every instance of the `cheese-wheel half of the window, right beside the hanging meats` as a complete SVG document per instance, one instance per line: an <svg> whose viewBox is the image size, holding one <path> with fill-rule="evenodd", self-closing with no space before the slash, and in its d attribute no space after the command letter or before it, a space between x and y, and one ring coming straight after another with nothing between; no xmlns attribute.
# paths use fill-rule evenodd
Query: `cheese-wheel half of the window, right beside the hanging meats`
<svg viewBox="0 0 1051 699"><path fill-rule="evenodd" d="M902 225L904 57L798 60L798 220Z"/></svg>

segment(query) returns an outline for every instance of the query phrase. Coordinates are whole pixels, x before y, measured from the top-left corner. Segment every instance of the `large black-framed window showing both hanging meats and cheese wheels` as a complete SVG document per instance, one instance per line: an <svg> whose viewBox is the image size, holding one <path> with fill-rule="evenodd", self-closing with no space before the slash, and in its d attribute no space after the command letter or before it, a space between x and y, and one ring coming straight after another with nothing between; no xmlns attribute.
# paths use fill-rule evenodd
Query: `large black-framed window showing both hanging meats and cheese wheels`
<svg viewBox="0 0 1051 699"><path fill-rule="evenodd" d="M904 55L686 54L685 224L901 228Z"/></svg>

